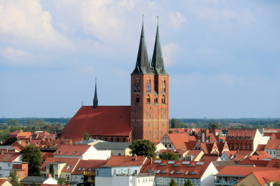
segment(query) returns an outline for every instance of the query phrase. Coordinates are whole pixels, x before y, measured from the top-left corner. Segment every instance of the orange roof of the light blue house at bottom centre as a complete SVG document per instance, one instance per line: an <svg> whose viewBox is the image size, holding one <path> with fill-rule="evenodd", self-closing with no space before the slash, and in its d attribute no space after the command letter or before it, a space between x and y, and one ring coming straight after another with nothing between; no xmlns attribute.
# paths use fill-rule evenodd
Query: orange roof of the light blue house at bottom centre
<svg viewBox="0 0 280 186"><path fill-rule="evenodd" d="M136 160L134 156L111 156L104 166L141 166L146 159L144 156L136 156Z"/></svg>

